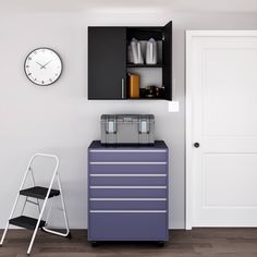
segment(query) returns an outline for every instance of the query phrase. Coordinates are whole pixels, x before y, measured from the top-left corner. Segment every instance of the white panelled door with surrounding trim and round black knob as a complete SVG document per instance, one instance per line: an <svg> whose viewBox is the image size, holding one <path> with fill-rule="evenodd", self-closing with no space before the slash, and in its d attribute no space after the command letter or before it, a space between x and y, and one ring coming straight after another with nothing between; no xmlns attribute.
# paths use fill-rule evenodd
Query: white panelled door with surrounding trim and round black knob
<svg viewBox="0 0 257 257"><path fill-rule="evenodd" d="M186 54L192 227L257 227L257 32L187 32Z"/></svg>

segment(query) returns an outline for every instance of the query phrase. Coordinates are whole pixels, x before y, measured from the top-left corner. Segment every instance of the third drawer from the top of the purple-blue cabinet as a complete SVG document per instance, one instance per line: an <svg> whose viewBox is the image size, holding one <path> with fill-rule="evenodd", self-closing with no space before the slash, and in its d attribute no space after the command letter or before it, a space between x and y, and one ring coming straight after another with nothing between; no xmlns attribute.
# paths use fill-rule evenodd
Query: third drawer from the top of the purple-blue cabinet
<svg viewBox="0 0 257 257"><path fill-rule="evenodd" d="M167 185L166 176L94 176L90 185Z"/></svg>

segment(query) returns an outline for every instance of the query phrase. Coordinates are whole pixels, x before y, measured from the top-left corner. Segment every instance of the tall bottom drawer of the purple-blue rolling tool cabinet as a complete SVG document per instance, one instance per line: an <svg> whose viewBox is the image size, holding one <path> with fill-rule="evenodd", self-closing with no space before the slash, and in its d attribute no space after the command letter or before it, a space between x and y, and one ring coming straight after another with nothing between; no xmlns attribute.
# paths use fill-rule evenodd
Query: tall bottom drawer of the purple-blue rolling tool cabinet
<svg viewBox="0 0 257 257"><path fill-rule="evenodd" d="M89 213L89 241L168 241L167 213Z"/></svg>

